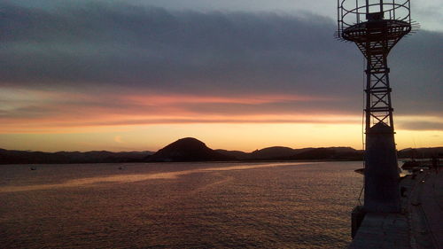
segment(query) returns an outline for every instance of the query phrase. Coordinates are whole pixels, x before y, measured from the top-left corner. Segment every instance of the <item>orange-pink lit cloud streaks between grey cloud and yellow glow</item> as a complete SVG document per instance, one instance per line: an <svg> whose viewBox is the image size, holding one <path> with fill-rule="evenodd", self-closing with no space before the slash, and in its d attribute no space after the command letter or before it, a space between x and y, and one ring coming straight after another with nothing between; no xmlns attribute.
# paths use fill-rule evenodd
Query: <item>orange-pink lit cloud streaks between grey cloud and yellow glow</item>
<svg viewBox="0 0 443 249"><path fill-rule="evenodd" d="M4 134L159 124L361 122L360 113L334 108L342 100L316 96L95 95L30 89L6 89L0 95ZM122 142L117 136L114 141Z"/></svg>

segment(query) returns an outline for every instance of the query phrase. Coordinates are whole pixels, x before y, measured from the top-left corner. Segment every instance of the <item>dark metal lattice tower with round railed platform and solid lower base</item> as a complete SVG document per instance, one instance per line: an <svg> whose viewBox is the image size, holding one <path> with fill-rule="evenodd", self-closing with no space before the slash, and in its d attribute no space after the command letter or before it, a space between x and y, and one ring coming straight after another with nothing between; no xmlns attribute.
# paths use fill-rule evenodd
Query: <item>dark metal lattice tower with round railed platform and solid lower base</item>
<svg viewBox="0 0 443 249"><path fill-rule="evenodd" d="M338 0L337 37L354 42L367 59L364 208L368 212L400 211L387 57L416 27L409 0Z"/></svg>

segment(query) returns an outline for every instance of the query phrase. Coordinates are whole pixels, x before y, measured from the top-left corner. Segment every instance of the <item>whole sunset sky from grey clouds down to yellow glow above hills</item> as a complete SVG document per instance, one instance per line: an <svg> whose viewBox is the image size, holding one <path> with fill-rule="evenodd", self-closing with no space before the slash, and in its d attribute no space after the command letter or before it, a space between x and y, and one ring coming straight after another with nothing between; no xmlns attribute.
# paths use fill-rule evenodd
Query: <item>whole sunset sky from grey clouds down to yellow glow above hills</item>
<svg viewBox="0 0 443 249"><path fill-rule="evenodd" d="M443 146L443 4L392 50L398 148ZM361 149L364 59L334 39L337 2L0 3L0 148Z"/></svg>

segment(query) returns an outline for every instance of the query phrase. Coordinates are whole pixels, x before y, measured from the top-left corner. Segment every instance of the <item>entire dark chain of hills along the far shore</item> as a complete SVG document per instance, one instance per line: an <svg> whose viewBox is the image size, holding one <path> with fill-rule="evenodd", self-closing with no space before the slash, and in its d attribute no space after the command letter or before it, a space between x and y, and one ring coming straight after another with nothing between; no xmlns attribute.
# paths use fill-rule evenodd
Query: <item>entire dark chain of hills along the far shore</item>
<svg viewBox="0 0 443 249"><path fill-rule="evenodd" d="M443 147L404 149L399 159L443 158ZM186 137L158 152L28 152L0 149L0 164L119 163L146 161L229 160L363 160L363 151L351 147L291 149L274 146L254 152L212 150L196 138Z"/></svg>

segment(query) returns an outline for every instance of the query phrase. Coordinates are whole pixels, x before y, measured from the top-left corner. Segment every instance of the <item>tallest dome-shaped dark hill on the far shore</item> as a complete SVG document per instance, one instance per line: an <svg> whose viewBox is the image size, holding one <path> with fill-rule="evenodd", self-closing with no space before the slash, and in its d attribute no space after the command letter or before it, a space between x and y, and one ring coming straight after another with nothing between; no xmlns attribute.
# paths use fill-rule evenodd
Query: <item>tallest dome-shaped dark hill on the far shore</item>
<svg viewBox="0 0 443 249"><path fill-rule="evenodd" d="M152 156L148 161L215 161L234 160L208 148L205 143L193 137L186 137L167 145Z"/></svg>

